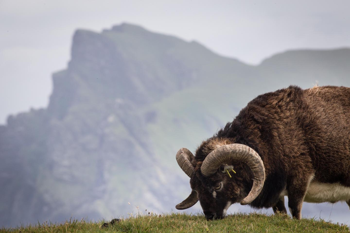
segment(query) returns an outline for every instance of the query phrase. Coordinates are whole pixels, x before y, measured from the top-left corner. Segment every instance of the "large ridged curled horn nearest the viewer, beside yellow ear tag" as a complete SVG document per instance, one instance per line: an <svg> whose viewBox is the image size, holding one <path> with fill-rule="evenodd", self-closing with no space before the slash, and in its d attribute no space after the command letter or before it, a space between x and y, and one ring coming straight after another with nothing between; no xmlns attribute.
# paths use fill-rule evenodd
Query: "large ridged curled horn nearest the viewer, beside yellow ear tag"
<svg viewBox="0 0 350 233"><path fill-rule="evenodd" d="M228 163L231 160L238 160L246 163L253 172L253 187L248 196L241 201L241 205L249 204L260 194L265 181L264 163L258 153L249 146L243 144L229 144L216 148L214 151L210 152L203 161L201 173L204 176L214 175L222 164Z"/></svg>

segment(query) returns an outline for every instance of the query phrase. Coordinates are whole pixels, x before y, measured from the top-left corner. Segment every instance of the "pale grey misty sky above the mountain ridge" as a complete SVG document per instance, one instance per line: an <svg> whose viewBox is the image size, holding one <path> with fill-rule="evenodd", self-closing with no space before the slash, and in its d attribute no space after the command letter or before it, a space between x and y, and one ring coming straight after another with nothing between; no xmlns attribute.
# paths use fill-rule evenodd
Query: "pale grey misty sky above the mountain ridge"
<svg viewBox="0 0 350 233"><path fill-rule="evenodd" d="M77 28L134 23L258 64L288 49L350 47L349 11L348 0L0 0L0 124L48 104L51 73L66 67Z"/></svg>

